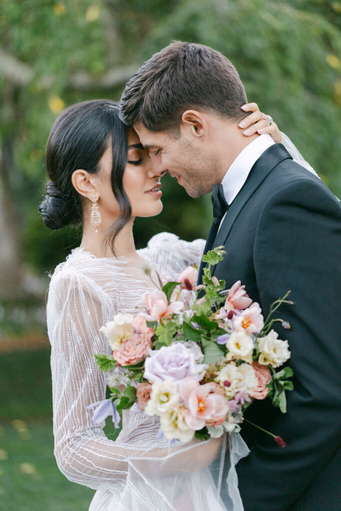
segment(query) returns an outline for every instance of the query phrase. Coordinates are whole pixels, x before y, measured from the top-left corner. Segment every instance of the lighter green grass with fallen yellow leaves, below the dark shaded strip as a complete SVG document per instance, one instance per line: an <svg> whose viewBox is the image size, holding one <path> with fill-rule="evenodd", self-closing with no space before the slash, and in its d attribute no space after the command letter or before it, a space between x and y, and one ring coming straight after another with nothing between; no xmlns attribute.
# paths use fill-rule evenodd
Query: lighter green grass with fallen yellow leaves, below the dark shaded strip
<svg viewBox="0 0 341 511"><path fill-rule="evenodd" d="M59 472L51 419L3 425L0 470L4 511L87 511L94 495Z"/></svg>

